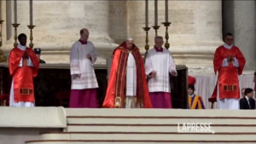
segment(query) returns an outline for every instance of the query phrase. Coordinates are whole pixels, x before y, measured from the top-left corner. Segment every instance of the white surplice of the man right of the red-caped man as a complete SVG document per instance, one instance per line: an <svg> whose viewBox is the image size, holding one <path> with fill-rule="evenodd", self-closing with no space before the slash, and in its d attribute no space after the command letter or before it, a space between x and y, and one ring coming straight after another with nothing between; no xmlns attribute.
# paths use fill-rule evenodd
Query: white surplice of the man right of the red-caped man
<svg viewBox="0 0 256 144"><path fill-rule="evenodd" d="M149 92L171 93L169 73L177 73L177 71L171 52L168 49L163 49L163 52L156 52L155 49L149 49L145 62L145 70L146 75L150 74L150 72L156 72L156 77L148 80Z"/></svg>

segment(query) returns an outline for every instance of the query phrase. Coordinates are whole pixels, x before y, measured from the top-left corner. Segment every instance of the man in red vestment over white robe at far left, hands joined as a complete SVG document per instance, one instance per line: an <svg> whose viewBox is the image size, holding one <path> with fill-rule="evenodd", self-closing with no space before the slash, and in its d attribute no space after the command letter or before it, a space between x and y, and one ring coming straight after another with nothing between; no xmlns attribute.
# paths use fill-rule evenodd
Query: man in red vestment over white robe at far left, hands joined
<svg viewBox="0 0 256 144"><path fill-rule="evenodd" d="M39 60L31 48L26 47L26 35L21 33L19 44L9 54L9 73L13 78L9 107L34 107L33 77L38 75Z"/></svg>

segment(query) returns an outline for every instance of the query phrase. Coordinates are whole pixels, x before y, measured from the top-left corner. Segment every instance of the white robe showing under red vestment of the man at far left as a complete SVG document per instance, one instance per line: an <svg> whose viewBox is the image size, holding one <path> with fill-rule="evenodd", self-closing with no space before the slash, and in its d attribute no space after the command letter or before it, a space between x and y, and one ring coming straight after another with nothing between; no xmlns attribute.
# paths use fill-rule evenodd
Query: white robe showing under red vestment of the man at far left
<svg viewBox="0 0 256 144"><path fill-rule="evenodd" d="M17 46L20 50L26 50L26 46L22 46L20 44L18 44ZM28 60L26 62L27 66L33 66L32 64L32 60L30 59L30 57L28 57ZM23 59L20 59L20 67L23 66ZM26 77L26 76L24 76ZM15 91L14 91L14 79L12 80L12 85L11 85L11 89L10 89L10 94L9 94L9 107L35 107L35 103L34 102L26 102L26 101L19 101L19 102L15 102Z"/></svg>

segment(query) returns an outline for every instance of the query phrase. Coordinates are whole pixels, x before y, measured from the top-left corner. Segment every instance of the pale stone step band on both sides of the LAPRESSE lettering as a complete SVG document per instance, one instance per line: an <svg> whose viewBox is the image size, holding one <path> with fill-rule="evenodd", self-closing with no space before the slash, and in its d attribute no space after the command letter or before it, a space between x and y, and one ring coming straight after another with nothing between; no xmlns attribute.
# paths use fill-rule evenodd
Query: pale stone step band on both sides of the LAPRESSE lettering
<svg viewBox="0 0 256 144"><path fill-rule="evenodd" d="M177 132L179 130L182 130L183 127L177 125L160 125L155 124L151 126L143 126L143 125L111 125L108 124L107 126L104 125L93 125L93 124L84 124L84 125L68 125L67 126L67 132ZM212 126L211 128L215 133L218 132L224 132L224 133L241 133L241 132L251 132L256 133L256 125L254 127L248 125L230 125L230 126Z"/></svg>

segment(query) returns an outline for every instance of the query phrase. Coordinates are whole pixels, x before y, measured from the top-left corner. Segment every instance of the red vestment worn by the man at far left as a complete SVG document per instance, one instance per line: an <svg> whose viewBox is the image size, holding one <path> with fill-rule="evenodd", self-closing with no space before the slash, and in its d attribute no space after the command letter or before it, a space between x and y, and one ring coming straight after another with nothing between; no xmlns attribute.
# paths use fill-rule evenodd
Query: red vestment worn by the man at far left
<svg viewBox="0 0 256 144"><path fill-rule="evenodd" d="M24 55L25 51L32 60L33 66L20 67L20 60ZM33 77L38 75L39 60L34 54L33 50L26 48L21 50L14 48L9 54L9 73L13 78L15 102L25 101L34 102L34 84Z"/></svg>

